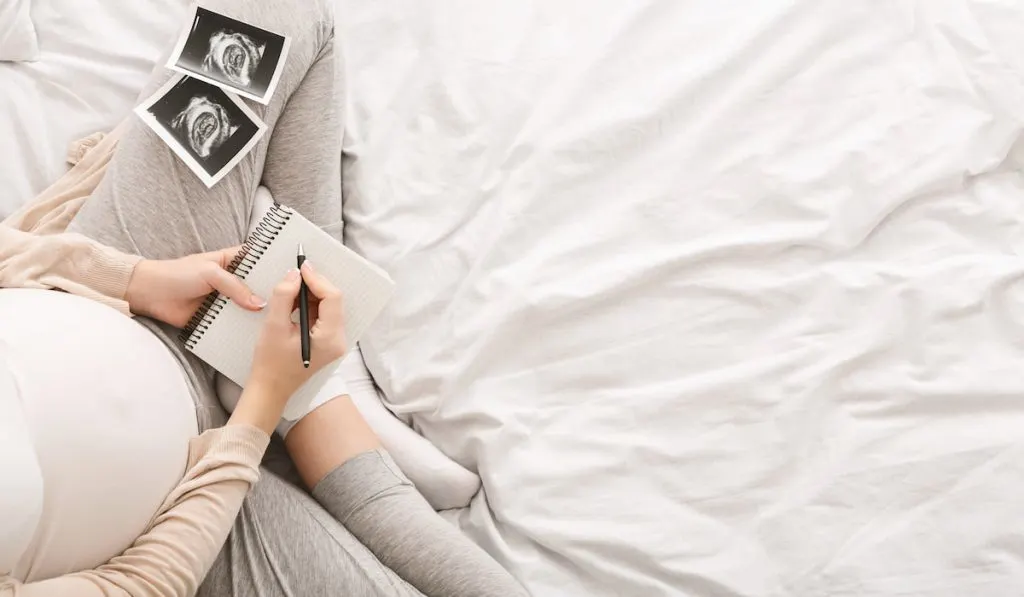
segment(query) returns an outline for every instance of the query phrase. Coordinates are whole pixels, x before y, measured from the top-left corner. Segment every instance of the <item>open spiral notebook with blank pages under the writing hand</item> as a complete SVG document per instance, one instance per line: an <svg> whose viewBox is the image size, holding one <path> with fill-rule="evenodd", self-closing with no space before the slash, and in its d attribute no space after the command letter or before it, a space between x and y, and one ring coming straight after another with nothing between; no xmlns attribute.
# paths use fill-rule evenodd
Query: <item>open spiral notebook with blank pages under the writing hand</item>
<svg viewBox="0 0 1024 597"><path fill-rule="evenodd" d="M257 216L249 238L228 270L244 280L257 295L269 297L285 273L295 267L300 243L316 271L341 290L346 343L349 347L355 346L390 300L394 283L383 269L294 210L270 203L263 215ZM247 311L219 293L213 293L181 331L181 341L194 354L244 387L252 371L253 348L263 317L262 311ZM296 353L295 358L299 359L300 355ZM285 409L286 419L295 420L305 414L309 402L340 363L325 367L299 388Z"/></svg>

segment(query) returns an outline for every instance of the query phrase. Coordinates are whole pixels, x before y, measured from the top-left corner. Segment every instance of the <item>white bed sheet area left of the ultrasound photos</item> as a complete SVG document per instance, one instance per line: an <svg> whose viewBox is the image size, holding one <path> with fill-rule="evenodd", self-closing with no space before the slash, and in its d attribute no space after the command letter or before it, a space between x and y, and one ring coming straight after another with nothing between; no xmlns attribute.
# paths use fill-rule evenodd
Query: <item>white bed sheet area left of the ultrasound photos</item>
<svg viewBox="0 0 1024 597"><path fill-rule="evenodd" d="M135 104L187 0L33 0L40 55L0 62L0 218L67 170L68 144Z"/></svg>

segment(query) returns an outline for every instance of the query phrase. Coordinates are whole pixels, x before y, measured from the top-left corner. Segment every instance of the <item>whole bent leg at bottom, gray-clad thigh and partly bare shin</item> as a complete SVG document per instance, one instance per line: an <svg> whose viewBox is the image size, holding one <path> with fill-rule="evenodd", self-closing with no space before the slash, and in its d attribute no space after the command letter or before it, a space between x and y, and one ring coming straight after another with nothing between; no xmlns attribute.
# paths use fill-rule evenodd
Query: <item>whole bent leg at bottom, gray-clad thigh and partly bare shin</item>
<svg viewBox="0 0 1024 597"><path fill-rule="evenodd" d="M287 443L316 501L264 469L197 597L525 597L434 512L347 396Z"/></svg>

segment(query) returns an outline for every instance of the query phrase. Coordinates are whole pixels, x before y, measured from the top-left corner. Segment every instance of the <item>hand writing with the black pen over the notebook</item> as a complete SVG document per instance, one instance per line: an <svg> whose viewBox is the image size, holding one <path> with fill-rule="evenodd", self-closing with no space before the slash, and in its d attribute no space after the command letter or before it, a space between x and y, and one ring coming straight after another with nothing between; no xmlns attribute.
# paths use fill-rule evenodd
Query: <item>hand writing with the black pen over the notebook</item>
<svg viewBox="0 0 1024 597"><path fill-rule="evenodd" d="M302 280L309 289L311 360L308 368L302 365L299 326L292 323ZM346 343L341 301L341 291L316 273L309 261L302 265L301 272L293 269L285 275L273 289L266 307L252 373L232 420L249 419L246 422L269 433L292 394L317 371L344 356Z"/></svg>

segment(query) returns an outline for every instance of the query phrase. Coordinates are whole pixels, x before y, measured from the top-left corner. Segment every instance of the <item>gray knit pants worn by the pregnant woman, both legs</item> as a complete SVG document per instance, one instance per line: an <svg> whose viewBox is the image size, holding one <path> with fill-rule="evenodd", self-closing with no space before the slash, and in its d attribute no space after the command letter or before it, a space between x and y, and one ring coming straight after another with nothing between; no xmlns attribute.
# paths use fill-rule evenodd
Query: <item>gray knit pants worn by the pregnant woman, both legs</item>
<svg viewBox="0 0 1024 597"><path fill-rule="evenodd" d="M258 145L213 188L140 121L120 141L96 193L71 225L122 251L166 259L245 240L254 194L274 199L340 237L340 82L335 77L333 0L208 0L217 10L292 37ZM170 45L170 42L169 42ZM170 73L158 68L142 96ZM330 229L330 228L329 228ZM181 364L201 429L222 425L214 372L183 350L177 330L139 318ZM383 452L331 472L312 496L291 481L281 441L199 595L514 596L525 593L482 550L445 523ZM291 471L294 472L294 471Z"/></svg>

